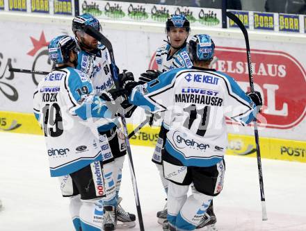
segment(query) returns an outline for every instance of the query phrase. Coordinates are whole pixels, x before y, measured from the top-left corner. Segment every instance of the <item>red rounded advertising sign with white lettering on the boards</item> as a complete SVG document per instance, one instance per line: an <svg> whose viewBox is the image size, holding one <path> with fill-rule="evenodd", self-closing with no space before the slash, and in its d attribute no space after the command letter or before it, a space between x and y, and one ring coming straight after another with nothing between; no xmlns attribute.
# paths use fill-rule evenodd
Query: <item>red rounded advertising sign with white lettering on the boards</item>
<svg viewBox="0 0 306 231"><path fill-rule="evenodd" d="M213 65L232 76L243 89L249 89L245 49L216 47L220 59ZM255 89L261 92L264 108L259 126L289 129L303 121L306 114L306 74L300 62L289 53L252 49ZM227 120L227 123L232 121Z"/></svg>

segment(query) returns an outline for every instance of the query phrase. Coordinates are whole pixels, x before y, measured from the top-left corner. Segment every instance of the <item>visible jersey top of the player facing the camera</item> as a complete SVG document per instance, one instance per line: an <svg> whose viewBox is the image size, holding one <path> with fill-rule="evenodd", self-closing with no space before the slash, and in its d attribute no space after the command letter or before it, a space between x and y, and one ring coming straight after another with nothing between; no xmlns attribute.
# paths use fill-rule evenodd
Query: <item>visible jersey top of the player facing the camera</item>
<svg viewBox="0 0 306 231"><path fill-rule="evenodd" d="M193 63L189 58L186 46L179 49L172 56L168 55L170 53L170 47L170 44L165 44L156 50L155 60L159 71L166 72L176 68L192 67Z"/></svg>

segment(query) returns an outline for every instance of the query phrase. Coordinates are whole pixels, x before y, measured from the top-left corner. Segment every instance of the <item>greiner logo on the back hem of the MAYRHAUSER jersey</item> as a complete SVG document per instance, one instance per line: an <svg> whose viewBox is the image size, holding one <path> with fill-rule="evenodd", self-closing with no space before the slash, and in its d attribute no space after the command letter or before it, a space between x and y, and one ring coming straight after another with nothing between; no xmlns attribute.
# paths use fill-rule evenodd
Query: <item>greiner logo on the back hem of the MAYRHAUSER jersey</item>
<svg viewBox="0 0 306 231"><path fill-rule="evenodd" d="M209 148L209 144L203 144L195 139L188 139L185 133L178 131L173 133L173 141L175 142L175 146L180 149L192 148L199 151L205 151Z"/></svg>

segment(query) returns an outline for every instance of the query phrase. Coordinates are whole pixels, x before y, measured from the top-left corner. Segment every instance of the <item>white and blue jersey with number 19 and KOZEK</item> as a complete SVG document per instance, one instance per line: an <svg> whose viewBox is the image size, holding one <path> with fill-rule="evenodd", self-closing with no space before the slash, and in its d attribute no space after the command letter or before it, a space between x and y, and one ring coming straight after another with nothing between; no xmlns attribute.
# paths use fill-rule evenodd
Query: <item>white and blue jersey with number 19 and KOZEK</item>
<svg viewBox="0 0 306 231"><path fill-rule="evenodd" d="M95 96L86 74L72 67L55 69L42 78L33 97L51 176L64 176L102 160L95 122L112 115L106 102Z"/></svg>

